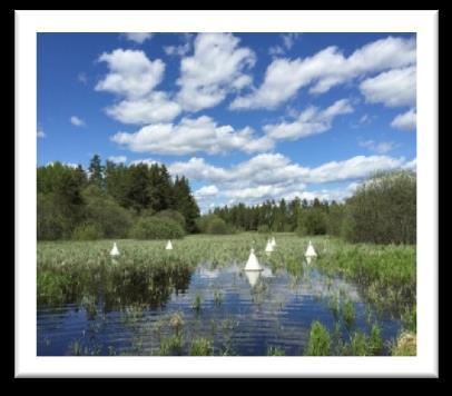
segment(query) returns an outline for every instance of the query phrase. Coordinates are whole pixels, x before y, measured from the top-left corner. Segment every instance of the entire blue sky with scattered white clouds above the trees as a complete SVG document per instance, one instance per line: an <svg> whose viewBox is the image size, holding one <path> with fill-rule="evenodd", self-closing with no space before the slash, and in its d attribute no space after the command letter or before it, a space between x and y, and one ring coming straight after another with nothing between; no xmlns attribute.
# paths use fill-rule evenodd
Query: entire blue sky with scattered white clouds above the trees
<svg viewBox="0 0 452 396"><path fill-rule="evenodd" d="M203 210L415 168L402 33L39 33L38 165L164 162Z"/></svg>

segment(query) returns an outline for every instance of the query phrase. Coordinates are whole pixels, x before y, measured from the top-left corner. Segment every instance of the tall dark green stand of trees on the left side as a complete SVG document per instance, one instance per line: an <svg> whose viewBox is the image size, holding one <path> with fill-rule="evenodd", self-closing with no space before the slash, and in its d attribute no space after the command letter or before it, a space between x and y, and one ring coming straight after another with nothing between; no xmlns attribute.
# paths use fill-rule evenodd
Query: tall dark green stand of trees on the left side
<svg viewBox="0 0 452 396"><path fill-rule="evenodd" d="M86 171L55 162L38 167L37 192L38 239L140 237L168 227L183 235L199 217L188 179L171 179L160 164L102 165L95 155Z"/></svg>

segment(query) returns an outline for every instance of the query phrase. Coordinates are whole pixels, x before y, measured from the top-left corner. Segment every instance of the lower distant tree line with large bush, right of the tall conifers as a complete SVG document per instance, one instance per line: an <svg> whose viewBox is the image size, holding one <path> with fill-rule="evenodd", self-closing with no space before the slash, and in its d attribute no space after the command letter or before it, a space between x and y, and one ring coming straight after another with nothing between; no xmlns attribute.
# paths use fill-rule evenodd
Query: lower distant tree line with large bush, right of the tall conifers
<svg viewBox="0 0 452 396"><path fill-rule="evenodd" d="M409 170L377 172L344 202L281 199L224 206L197 220L209 234L235 230L333 235L353 242L415 244L416 178Z"/></svg>

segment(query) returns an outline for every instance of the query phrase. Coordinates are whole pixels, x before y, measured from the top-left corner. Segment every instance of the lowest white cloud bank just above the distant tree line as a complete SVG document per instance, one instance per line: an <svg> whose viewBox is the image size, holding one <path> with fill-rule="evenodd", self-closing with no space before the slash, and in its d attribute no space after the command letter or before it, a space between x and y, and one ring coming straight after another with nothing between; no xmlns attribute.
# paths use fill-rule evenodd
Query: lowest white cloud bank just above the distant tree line
<svg viewBox="0 0 452 396"><path fill-rule="evenodd" d="M230 168L209 165L203 158L169 165L171 175L184 175L205 182L195 194L204 207L215 200L259 204L266 199L294 197L342 200L353 194L360 180L376 170L413 167L413 161L387 156L356 156L343 161L331 161L308 168L294 164L281 154L261 154ZM309 185L346 182L346 188L309 189ZM210 197L212 194L212 197Z"/></svg>

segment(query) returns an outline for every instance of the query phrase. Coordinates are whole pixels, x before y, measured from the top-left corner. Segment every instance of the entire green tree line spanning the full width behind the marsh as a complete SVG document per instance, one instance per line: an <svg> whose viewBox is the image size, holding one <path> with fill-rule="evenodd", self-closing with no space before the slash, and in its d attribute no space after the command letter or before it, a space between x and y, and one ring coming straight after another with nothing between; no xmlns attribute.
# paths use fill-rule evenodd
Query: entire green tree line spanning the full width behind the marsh
<svg viewBox="0 0 452 396"><path fill-rule="evenodd" d="M184 176L163 164L126 166L95 155L87 170L38 167L38 239L178 238L237 231L333 235L353 242L415 244L416 178L380 172L344 202L299 199L217 207L200 216Z"/></svg>

